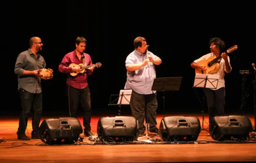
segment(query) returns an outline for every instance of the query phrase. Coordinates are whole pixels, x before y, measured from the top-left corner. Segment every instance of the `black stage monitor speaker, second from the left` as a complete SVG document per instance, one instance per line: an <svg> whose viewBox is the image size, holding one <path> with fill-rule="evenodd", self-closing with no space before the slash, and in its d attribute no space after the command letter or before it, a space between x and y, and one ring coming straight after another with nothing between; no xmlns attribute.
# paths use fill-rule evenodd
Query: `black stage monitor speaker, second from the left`
<svg viewBox="0 0 256 163"><path fill-rule="evenodd" d="M138 121L134 117L101 117L97 124L100 140L127 142L137 139Z"/></svg>

